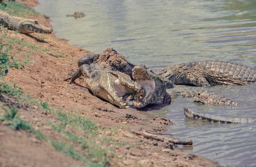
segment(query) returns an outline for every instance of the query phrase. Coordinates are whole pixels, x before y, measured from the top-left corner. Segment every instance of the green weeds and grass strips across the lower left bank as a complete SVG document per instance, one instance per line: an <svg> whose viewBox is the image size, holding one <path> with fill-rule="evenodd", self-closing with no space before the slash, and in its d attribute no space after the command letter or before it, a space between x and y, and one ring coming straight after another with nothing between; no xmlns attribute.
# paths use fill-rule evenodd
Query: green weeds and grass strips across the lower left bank
<svg viewBox="0 0 256 167"><path fill-rule="evenodd" d="M57 141L51 137L45 136L41 131L35 130L32 125L23 121L18 116L18 110L16 108L4 108L3 111L0 110L0 122L10 126L14 130L26 130L35 134L36 138L47 141L52 144L56 150L62 151L64 154L81 161L87 166L105 166L108 164L113 154L107 148L95 143L99 130L101 130L95 122L90 121L86 117L77 116L74 113L55 109L51 107L47 101L39 101L32 98L29 94L22 93L22 88L18 87L16 85L17 83L10 85L3 80L9 68L23 67L23 63L15 61L14 58L10 58L8 55L10 49L4 51L2 51L2 49L3 47L0 48L0 57L2 57L4 61L0 64L1 70L3 71L1 73L2 75L0 74L0 92L16 97L19 102L24 103L26 106L36 105L42 110L54 114L57 123L49 123L49 125L52 126L55 133L63 137L63 140ZM6 70L7 72L5 73L4 71ZM76 129L79 134L87 134L91 139L70 132L73 129Z"/></svg>

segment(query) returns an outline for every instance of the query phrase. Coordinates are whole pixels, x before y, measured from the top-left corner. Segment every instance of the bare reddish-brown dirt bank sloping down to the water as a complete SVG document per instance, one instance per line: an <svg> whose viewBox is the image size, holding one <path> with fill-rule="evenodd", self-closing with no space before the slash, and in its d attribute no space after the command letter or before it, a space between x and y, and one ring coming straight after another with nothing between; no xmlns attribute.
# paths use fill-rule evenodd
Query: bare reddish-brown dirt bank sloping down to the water
<svg viewBox="0 0 256 167"><path fill-rule="evenodd" d="M36 0L21 1L28 6L37 4ZM37 19L42 25L51 27L50 20L43 15L30 16L30 18ZM216 163L206 158L183 152L178 148L171 149L172 145L170 146L168 141L162 142L146 139L143 136L132 133L133 130L140 130L151 134L165 134L166 126L172 126L170 120L162 117L156 118L148 112L119 109L93 96L82 86L82 79L77 80L76 84L64 82L64 78L72 74L77 68L76 60L85 54L93 54L92 52L69 45L66 39L58 38L54 34L42 35L32 33L26 35L12 30L8 30L6 33L1 32L1 34L3 36L3 43L10 41L10 39L27 42L23 45L20 42L13 42L13 49L10 55L13 55L18 60L23 60L24 55L30 53L29 61L33 62L32 64L25 65L25 69L10 70L8 76L5 78L7 81L16 81L18 82L17 85L23 88L24 93L29 93L32 97L48 101L51 106L58 107L64 112L68 111L76 116L90 118L99 127L110 130L115 127L125 127L118 129L117 133L110 137L114 141L125 144L110 144L106 146L104 141L95 141L108 147L115 154L110 159L108 165L217 166ZM5 102L1 102L1 104L3 106L8 105ZM21 107L19 114L24 120L29 121L44 134L48 136L52 134L54 138L58 138L53 135L53 129L45 126L46 122L56 122L53 114L46 114L40 109L37 109L37 107L26 109ZM86 137L89 138L89 136ZM7 139L8 142L6 142ZM13 130L9 132L6 127L0 125L0 142L6 142L5 146L0 147L0 158L5 159L3 166L19 166L17 164L21 164L23 159L27 160L23 166L29 166L28 164L39 164L38 166L40 164L41 166L70 166L70 164L74 166L79 164L74 159L64 158L64 155L55 151L49 144L31 137L29 132L17 132ZM15 143L17 147L14 148L12 143ZM38 156L35 153L41 151L44 156ZM23 152L21 156L19 156L20 152ZM15 161L10 157L19 158ZM46 164L45 159L47 158L54 159L54 161L52 160L51 163ZM54 164L54 162L59 163ZM45 164L42 165L42 163Z"/></svg>

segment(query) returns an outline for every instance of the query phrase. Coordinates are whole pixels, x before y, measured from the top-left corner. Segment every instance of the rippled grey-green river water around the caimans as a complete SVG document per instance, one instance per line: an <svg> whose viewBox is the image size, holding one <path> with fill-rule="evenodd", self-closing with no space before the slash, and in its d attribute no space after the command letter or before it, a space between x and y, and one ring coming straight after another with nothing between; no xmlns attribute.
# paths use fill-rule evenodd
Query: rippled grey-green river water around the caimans
<svg viewBox="0 0 256 167"><path fill-rule="evenodd" d="M134 64L154 71L200 60L222 60L256 67L255 0L39 0L35 9L49 16L54 32L69 43L101 53L114 48ZM83 12L84 18L66 14ZM186 151L222 165L256 166L256 124L210 124L185 119L183 106L225 117L256 118L256 86L216 86L212 91L238 106L206 106L178 98L150 111L174 121L179 139L192 139Z"/></svg>

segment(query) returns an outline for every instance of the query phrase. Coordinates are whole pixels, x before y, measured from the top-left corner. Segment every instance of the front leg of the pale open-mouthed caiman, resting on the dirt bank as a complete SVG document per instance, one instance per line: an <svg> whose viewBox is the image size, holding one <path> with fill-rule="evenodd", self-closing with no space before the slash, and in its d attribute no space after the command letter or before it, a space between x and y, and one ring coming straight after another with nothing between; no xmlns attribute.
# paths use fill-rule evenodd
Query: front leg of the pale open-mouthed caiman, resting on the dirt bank
<svg viewBox="0 0 256 167"><path fill-rule="evenodd" d="M87 64L81 65L76 72L74 72L70 77L64 79L64 81L69 80L69 84L75 83L75 80L82 75L87 76L91 72L91 67Z"/></svg>

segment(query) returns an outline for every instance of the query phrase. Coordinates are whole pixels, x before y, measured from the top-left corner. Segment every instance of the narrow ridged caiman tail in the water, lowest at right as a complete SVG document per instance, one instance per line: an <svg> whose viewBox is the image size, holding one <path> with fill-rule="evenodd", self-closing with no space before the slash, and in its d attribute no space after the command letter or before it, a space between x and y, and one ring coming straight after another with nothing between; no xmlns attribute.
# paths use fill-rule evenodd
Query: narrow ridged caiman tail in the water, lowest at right
<svg viewBox="0 0 256 167"><path fill-rule="evenodd" d="M188 119L202 121L202 122L212 122L212 123L256 123L256 119L253 118L225 118L219 116L212 116L208 114L198 114L191 111L189 108L184 107L184 115Z"/></svg>

